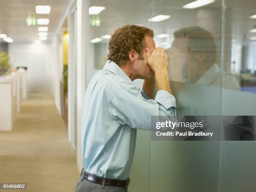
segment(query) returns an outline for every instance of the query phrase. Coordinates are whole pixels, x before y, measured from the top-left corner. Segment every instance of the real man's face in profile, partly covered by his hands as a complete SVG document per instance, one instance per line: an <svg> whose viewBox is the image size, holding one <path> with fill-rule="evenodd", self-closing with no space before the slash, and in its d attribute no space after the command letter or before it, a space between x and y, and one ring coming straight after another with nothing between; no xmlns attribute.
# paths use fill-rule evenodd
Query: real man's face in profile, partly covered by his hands
<svg viewBox="0 0 256 192"><path fill-rule="evenodd" d="M146 48L148 48L150 51L153 51L156 48L153 38L148 35L145 35L145 47L142 50L142 56L136 60L133 66L133 71L137 74L137 78L141 79L150 79L154 74L148 65Z"/></svg>

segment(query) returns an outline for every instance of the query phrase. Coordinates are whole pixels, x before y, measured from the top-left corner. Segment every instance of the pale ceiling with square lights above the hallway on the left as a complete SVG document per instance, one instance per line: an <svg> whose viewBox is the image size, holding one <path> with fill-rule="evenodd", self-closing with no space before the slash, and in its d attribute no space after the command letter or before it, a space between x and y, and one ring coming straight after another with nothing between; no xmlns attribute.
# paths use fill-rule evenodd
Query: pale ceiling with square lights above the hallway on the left
<svg viewBox="0 0 256 192"><path fill-rule="evenodd" d="M14 42L33 42L38 40L38 25L27 26L28 13L35 13L36 5L50 5L51 13L36 14L36 18L49 18L48 40L51 40L71 0L1 0L0 31L12 38ZM42 25L47 26L47 25ZM0 39L0 42L4 42Z"/></svg>

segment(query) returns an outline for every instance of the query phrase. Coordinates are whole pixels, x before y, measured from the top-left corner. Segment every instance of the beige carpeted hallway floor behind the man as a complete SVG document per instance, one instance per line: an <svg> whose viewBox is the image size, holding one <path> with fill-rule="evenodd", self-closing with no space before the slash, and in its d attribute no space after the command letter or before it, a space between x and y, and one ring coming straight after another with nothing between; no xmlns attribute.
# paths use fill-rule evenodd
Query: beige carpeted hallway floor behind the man
<svg viewBox="0 0 256 192"><path fill-rule="evenodd" d="M74 192L78 178L76 153L53 97L28 93L13 130L0 132L0 183L26 183L28 192Z"/></svg>

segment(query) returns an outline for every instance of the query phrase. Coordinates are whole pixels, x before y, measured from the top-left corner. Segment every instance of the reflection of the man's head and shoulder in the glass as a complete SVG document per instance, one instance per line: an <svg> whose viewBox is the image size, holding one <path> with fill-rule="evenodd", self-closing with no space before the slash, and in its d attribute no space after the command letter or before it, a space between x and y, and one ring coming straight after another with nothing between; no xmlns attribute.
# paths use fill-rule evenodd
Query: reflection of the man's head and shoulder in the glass
<svg viewBox="0 0 256 192"><path fill-rule="evenodd" d="M239 89L236 78L218 67L215 40L204 28L192 26L176 30L172 48L166 52L172 55L169 66L173 81L186 79L198 85ZM179 75L182 72L184 79Z"/></svg>

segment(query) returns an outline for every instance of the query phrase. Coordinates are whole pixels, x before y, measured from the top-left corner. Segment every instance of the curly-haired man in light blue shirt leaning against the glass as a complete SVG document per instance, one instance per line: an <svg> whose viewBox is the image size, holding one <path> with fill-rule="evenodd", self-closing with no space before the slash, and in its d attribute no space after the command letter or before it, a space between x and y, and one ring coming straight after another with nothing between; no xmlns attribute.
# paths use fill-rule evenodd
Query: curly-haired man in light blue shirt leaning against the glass
<svg viewBox="0 0 256 192"><path fill-rule="evenodd" d="M176 116L168 56L153 37L151 29L125 25L110 38L108 61L85 92L76 192L127 191L136 129L151 130L151 116ZM146 79L139 90L137 78Z"/></svg>

